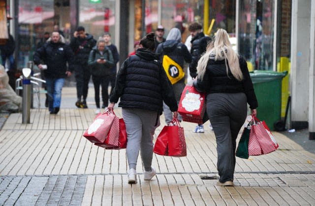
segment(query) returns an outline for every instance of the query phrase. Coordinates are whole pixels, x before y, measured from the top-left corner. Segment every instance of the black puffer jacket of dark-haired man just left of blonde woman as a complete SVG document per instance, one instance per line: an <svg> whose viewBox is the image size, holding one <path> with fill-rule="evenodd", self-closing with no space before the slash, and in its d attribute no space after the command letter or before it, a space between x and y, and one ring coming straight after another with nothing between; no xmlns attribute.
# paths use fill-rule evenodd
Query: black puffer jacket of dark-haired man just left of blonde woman
<svg viewBox="0 0 315 206"><path fill-rule="evenodd" d="M210 41L211 41L211 38L208 36L205 36L203 32L198 33L190 41L191 43L190 53L191 53L192 61L189 64L189 74L193 78L197 76L198 61L201 57L201 54L206 52L208 43Z"/></svg>

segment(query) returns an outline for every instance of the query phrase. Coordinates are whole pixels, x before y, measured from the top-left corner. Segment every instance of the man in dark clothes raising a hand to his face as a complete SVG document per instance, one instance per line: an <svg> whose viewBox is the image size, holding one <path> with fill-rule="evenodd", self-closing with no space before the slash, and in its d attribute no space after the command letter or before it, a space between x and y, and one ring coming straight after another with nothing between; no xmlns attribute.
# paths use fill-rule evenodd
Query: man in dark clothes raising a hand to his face
<svg viewBox="0 0 315 206"><path fill-rule="evenodd" d="M70 47L75 55L75 79L77 82L77 102L78 108L88 108L86 99L88 97L89 81L91 78L88 67L89 55L96 41L92 35L85 33L83 26L79 26L73 34ZM81 98L83 97L83 102Z"/></svg>

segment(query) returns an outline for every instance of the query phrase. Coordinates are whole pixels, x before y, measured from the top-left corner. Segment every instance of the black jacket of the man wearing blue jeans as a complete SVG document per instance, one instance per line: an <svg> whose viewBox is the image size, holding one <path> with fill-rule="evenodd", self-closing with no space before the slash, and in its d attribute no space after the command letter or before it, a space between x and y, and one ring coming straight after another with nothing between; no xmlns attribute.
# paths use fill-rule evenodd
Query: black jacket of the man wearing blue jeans
<svg viewBox="0 0 315 206"><path fill-rule="evenodd" d="M65 78L67 70L73 71L73 52L68 45L64 44L63 38L57 43L48 39L44 46L36 50L33 60L36 65L41 62L47 65L47 70L43 70L46 78Z"/></svg>

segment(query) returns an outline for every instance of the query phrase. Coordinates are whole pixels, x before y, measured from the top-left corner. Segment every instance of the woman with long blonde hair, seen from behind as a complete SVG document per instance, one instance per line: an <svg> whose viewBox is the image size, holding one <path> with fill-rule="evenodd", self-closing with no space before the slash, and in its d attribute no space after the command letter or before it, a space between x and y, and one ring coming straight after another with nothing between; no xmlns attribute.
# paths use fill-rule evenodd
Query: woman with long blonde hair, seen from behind
<svg viewBox="0 0 315 206"><path fill-rule="evenodd" d="M233 186L236 138L247 116L258 106L245 59L232 50L228 34L219 29L197 66L193 85L207 93L207 114L217 139L217 185Z"/></svg>

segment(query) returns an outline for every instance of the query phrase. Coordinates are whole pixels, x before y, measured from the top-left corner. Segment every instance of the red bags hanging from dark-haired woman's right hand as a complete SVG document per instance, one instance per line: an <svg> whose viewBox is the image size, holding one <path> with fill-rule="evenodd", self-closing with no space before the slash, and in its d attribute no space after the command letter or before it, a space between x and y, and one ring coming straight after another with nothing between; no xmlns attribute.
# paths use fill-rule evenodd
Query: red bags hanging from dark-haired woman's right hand
<svg viewBox="0 0 315 206"><path fill-rule="evenodd" d="M153 152L164 156L186 156L184 128L176 118L171 123L173 126L164 126L159 133Z"/></svg>

